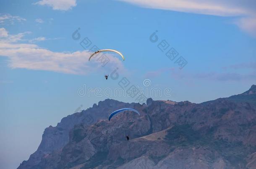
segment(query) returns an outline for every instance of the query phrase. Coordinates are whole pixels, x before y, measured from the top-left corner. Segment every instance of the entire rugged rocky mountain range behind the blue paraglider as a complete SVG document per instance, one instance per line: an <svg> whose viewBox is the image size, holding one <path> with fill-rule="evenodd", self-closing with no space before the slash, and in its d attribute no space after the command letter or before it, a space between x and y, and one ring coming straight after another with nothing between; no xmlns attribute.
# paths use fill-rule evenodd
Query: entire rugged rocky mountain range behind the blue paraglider
<svg viewBox="0 0 256 169"><path fill-rule="evenodd" d="M200 104L100 101L45 129L18 169L255 169L255 91ZM123 107L141 115L107 120Z"/></svg>

